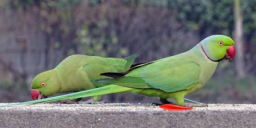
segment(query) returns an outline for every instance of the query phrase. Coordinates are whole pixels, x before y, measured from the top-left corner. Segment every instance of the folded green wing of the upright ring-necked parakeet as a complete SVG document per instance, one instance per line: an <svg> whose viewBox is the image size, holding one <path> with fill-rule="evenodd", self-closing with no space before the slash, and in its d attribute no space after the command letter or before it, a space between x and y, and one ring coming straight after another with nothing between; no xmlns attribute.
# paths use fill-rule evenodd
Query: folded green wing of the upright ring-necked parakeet
<svg viewBox="0 0 256 128"><path fill-rule="evenodd" d="M201 70L196 62L173 57L138 67L125 76L97 81L132 88L155 88L165 92L176 92L195 85L199 81Z"/></svg>

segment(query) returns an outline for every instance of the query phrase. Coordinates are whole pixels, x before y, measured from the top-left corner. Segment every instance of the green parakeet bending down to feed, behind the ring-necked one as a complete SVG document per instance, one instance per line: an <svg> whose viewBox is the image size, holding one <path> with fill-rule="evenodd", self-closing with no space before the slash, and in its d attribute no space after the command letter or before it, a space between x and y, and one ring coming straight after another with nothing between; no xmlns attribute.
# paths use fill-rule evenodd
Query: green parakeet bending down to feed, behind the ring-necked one
<svg viewBox="0 0 256 128"><path fill-rule="evenodd" d="M118 59L71 55L56 68L40 73L33 79L31 97L33 100L39 100L59 92L80 92L102 87L104 84L96 83L95 80L109 77L100 76L101 73L127 71L137 56L133 54ZM94 101L98 101L99 98L100 95L93 96ZM79 100L81 99L73 101Z"/></svg>

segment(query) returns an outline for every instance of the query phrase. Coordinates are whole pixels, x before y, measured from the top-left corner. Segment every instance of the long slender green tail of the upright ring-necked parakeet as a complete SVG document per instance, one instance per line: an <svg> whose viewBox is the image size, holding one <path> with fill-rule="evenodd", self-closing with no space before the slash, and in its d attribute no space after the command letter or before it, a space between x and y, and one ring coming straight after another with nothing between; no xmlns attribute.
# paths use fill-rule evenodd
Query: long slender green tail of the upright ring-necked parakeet
<svg viewBox="0 0 256 128"><path fill-rule="evenodd" d="M75 98L95 96L95 95L104 95L104 94L109 94L109 93L126 92L126 91L130 91L130 90L132 90L132 88L130 88L130 87L123 87L120 85L111 84L111 85L107 85L107 86L100 87L100 88L95 88L95 89L86 90L86 91L82 91L82 92L70 93L70 94L66 94L66 95L61 95L61 96L56 96L56 97L51 97L51 98L46 98L46 99L41 99L41 100L27 101L27 102L22 102L22 103L14 103L14 104L9 104L9 105L0 105L0 107L40 104L40 103L57 101L57 100L68 100L68 99L75 99Z"/></svg>

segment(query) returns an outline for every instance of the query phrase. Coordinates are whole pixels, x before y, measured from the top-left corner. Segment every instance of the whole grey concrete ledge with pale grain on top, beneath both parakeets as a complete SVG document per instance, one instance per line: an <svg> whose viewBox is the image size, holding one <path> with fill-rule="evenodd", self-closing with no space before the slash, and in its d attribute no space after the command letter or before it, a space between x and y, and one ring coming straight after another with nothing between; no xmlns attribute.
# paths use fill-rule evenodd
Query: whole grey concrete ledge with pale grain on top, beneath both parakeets
<svg viewBox="0 0 256 128"><path fill-rule="evenodd" d="M255 104L208 106L186 111L130 103L0 107L0 127L256 127Z"/></svg>

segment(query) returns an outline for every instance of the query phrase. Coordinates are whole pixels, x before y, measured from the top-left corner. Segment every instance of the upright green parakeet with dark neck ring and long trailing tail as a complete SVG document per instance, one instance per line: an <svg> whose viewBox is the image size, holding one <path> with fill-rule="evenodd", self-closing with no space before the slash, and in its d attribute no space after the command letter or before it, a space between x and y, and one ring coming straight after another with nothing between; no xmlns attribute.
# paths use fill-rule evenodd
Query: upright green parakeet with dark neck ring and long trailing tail
<svg viewBox="0 0 256 128"><path fill-rule="evenodd" d="M124 72L103 73L101 75L114 78L99 79L96 82L100 82L102 85L109 84L107 86L12 105L133 92L159 97L160 104L169 104L171 102L167 101L167 98L174 98L178 105L191 107L195 104L185 104L184 96L201 89L211 78L219 61L233 60L234 56L234 41L228 36L213 35L205 38L187 52L141 64Z"/></svg>

